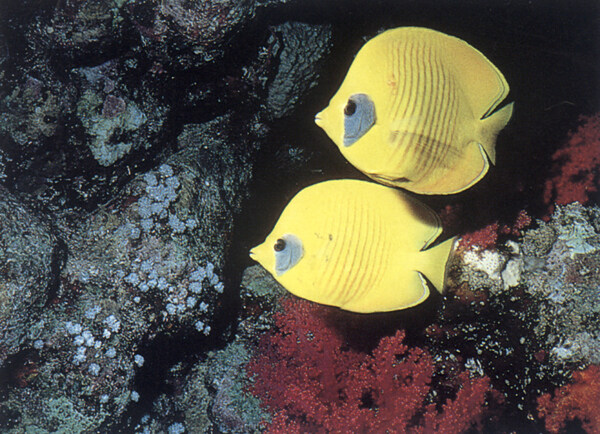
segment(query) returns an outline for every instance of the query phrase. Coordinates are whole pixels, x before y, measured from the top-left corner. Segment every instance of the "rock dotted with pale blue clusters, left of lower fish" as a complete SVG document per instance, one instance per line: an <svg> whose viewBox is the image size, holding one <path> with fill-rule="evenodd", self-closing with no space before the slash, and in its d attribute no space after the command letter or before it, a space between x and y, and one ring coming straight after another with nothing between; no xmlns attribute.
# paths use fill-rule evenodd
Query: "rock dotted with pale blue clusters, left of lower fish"
<svg viewBox="0 0 600 434"><path fill-rule="evenodd" d="M191 130L196 134L182 136L179 153L135 178L107 207L64 228L70 255L60 288L38 316L43 326L22 329L26 318L15 316L36 364L36 380L11 389L5 403L23 426L114 426L132 402L152 393L133 384L145 366L168 367L227 338L235 319L225 274L230 234L259 141L230 118ZM23 312L46 298L24 299ZM179 339L194 344L168 356L158 349Z"/></svg>

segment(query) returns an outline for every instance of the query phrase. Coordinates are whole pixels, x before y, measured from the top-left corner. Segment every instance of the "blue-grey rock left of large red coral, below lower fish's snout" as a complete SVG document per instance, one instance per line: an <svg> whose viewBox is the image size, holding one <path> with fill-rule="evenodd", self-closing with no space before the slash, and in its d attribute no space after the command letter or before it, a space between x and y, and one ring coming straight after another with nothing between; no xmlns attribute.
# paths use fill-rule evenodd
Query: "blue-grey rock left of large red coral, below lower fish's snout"
<svg viewBox="0 0 600 434"><path fill-rule="evenodd" d="M283 294L283 288L269 277L260 266L244 271L242 309L233 340L209 351L191 369L183 369L181 364L170 369L167 383L182 385L180 393L157 397L152 412L140 420L139 429L167 430L177 421L188 432L260 431L261 422L270 416L247 392L252 380L245 366L256 350L256 336L272 326L271 313Z"/></svg>

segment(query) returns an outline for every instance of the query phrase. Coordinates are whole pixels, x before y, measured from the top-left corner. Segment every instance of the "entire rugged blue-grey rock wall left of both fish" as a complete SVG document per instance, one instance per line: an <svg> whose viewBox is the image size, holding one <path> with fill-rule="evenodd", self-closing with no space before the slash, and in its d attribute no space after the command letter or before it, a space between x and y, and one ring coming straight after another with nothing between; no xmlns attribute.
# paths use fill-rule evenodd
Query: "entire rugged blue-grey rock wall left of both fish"
<svg viewBox="0 0 600 434"><path fill-rule="evenodd" d="M331 39L288 23L260 50L258 12L286 2L0 7L0 183L48 214L0 187L1 428L258 429L243 365L278 296L240 303L235 221L265 122L298 107Z"/></svg>

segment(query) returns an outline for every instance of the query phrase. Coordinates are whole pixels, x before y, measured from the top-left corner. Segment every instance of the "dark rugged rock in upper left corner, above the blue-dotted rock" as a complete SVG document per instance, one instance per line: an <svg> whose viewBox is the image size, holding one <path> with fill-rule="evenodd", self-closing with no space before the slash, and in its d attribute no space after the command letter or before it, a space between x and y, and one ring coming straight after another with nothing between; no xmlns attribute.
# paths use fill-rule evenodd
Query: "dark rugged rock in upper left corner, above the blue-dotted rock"
<svg viewBox="0 0 600 434"><path fill-rule="evenodd" d="M264 111L265 86L289 55L288 42L262 53L267 28L244 39L241 56L234 43L258 11L283 0L8 3L0 16L0 180L56 212L91 211L164 161L183 119L203 123L240 105ZM300 51L328 45L321 26L290 28L314 42L296 43ZM288 76L279 74L289 110L314 85L324 53L307 48Z"/></svg>

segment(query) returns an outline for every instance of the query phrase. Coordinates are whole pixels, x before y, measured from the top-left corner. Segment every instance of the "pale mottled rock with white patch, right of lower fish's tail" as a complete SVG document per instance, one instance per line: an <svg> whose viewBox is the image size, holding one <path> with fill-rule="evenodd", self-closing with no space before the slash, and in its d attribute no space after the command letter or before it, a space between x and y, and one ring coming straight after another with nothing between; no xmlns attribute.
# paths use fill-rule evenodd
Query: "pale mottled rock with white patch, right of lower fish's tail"
<svg viewBox="0 0 600 434"><path fill-rule="evenodd" d="M598 364L599 216L598 208L577 202L557 205L550 221L538 220L520 241L463 252L465 266L455 278L476 291L526 292L537 300L530 327L546 342L550 359L558 365Z"/></svg>

